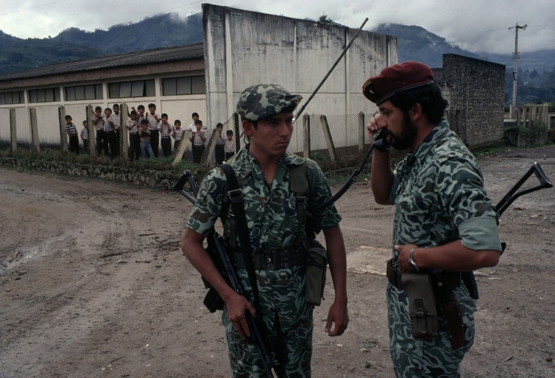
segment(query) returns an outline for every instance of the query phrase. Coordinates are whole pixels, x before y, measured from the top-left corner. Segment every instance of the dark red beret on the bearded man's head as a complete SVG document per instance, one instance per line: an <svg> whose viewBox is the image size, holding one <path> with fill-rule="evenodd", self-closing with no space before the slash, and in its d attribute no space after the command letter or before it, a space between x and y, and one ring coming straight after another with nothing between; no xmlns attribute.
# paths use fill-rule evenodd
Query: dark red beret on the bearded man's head
<svg viewBox="0 0 555 378"><path fill-rule="evenodd" d="M379 105L400 89L411 89L434 83L434 74L427 65L404 62L382 69L377 76L366 80L362 93L368 100Z"/></svg>

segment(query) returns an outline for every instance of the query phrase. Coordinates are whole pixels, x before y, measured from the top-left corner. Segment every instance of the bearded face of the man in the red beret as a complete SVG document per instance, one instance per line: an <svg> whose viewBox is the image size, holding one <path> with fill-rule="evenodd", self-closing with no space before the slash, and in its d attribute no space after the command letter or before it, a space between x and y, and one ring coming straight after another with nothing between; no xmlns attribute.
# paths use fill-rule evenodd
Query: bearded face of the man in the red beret
<svg viewBox="0 0 555 378"><path fill-rule="evenodd" d="M379 112L379 126L387 128L391 146L398 150L411 147L416 140L416 127L409 117L409 112L397 108L391 101L380 104Z"/></svg>

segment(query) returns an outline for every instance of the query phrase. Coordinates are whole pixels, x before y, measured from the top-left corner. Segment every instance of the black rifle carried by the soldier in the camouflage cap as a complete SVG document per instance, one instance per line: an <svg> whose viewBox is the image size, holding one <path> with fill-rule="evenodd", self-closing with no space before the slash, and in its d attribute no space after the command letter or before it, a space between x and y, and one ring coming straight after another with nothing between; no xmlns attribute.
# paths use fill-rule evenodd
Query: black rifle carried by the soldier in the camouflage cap
<svg viewBox="0 0 555 378"><path fill-rule="evenodd" d="M185 183L189 182L189 187L191 187L191 191L193 192L193 196L191 196L183 187L185 187ZM188 169L183 172L178 182L173 185L173 190L178 191L182 196L187 198L192 204L195 203L195 198L198 195L198 189L194 182L193 175L191 171ZM241 282L239 281L239 277L237 277L237 273L233 267L233 264L230 261L229 255L227 250L225 250L225 246L228 243L225 242L225 239L214 230L210 231L208 236L208 249L207 253L210 255L212 261L214 261L214 265L219 270L223 278L228 285L239 295L245 295L245 291ZM210 284L204 279L203 282L207 289L209 289L204 304L210 310L210 312L216 311L216 309L223 309L223 300L221 300L219 294L214 290L214 288L210 287ZM261 327L259 327L259 323L257 320L250 315L250 312L246 311L245 318L247 320L248 329L250 330L250 336L248 337L247 341L250 344L254 344L258 355L260 356L260 361L262 361L262 367L264 368L264 372L266 373L266 377L273 378L272 368L278 365L278 360L273 359L271 354L268 352L268 345L267 336L262 332Z"/></svg>

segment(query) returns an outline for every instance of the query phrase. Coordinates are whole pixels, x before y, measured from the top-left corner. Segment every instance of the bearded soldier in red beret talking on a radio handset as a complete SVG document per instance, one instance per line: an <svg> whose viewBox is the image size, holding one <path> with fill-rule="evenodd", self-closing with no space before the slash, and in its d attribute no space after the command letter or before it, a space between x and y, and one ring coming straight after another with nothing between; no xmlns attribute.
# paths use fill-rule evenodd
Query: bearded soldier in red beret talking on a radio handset
<svg viewBox="0 0 555 378"><path fill-rule="evenodd" d="M454 273L450 290L463 323L460 347L452 347L441 313L436 338L414 338L407 294L388 275L395 375L460 377L460 363L474 342L476 305L458 272L499 261L502 248L493 205L475 158L443 119L447 101L429 67L418 62L386 67L364 83L363 93L379 109L366 126L370 140L385 128L391 146L409 149L395 171L389 152L373 150L374 198L377 203L395 205L393 276L421 270Z"/></svg>

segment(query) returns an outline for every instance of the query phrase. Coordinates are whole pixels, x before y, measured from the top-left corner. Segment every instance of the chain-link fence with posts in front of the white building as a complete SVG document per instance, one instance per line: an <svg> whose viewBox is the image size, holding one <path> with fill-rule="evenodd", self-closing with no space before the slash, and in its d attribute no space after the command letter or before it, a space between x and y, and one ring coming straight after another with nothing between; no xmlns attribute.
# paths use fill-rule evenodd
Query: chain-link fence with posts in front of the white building
<svg viewBox="0 0 555 378"><path fill-rule="evenodd" d="M69 115L78 133L78 153L87 162L102 164L108 158L119 162L144 159L144 155L136 151L137 129L128 127L131 122L128 121L131 111L128 104L121 104L118 121L113 122L116 130L114 139L110 140L115 140L117 145L99 139L99 133L111 132L108 128L98 126L98 123L95 126L96 118L93 113L99 106L101 105L90 104L0 109L0 151L9 154L17 150L54 150L60 151L62 159L71 156L74 152L69 152L72 150L65 129L65 116ZM104 124L107 124L104 110L102 109ZM305 114L294 123L289 152L331 164L344 160L345 157L360 155L368 144L365 125L370 116L371 114L363 113ZM112 117L115 117L114 112ZM173 165L183 160L202 166L220 164L247 142L238 114L233 114L230 119L221 122L221 132L214 125L204 125L197 133L196 128L182 124L182 132L174 133L177 128L171 121L169 123L169 138L167 132L155 132L157 137L150 139L150 144L158 157L167 158L171 155ZM200 135L202 138L199 138ZM176 143L178 140L180 141ZM102 145L96 148L97 144ZM202 151L201 155L195 156L194 153L198 151Z"/></svg>

